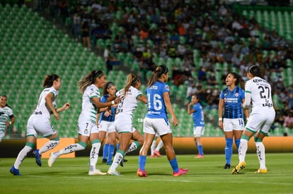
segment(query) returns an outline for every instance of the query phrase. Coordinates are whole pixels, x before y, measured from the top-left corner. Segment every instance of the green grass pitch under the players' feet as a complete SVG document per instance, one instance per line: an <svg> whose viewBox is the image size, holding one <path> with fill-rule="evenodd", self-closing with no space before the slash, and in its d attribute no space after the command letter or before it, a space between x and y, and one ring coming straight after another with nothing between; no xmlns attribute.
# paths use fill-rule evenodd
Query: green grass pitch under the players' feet
<svg viewBox="0 0 293 194"><path fill-rule="evenodd" d="M246 156L246 169L231 174L223 169L224 154L206 154L204 159L194 155L177 155L180 167L190 171L173 177L166 156L146 160L149 177L139 178L137 156L127 156L125 166L118 167L122 176L88 176L88 157L57 159L54 166L35 164L33 157L21 165L22 176L13 176L9 169L14 158L0 161L0 193L293 193L293 154L266 154L268 174L254 174L258 169L256 154ZM234 154L232 162L238 163ZM98 169L108 171L101 163Z"/></svg>

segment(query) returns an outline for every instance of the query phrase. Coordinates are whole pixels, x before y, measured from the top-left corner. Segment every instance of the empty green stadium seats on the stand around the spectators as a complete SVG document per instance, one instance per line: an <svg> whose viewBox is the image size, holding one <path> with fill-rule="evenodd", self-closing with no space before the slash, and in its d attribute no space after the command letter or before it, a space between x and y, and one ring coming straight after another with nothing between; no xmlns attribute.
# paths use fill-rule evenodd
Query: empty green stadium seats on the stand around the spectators
<svg viewBox="0 0 293 194"><path fill-rule="evenodd" d="M135 10L135 9L133 9ZM263 23L263 30L258 31L260 42L267 32L276 29L280 35L284 36L287 40L292 41L292 20L293 9L287 8L272 8L270 6L234 6L234 11L251 18L254 16L258 23ZM131 9L127 8L128 13ZM159 9L157 11L160 11ZM117 20L122 16L122 11L117 10L113 13L113 17ZM71 37L70 33L64 33L57 25L46 20L40 16L38 12L33 11L27 6L20 8L13 4L0 4L0 75L4 75L0 83L0 93L8 95L11 107L14 114L16 114L16 126L13 131L17 135L8 135L7 138L23 138L25 135L25 126L28 117L35 108L38 94L42 90L42 80L46 74L56 73L62 78L62 88L60 90L59 104L64 102L71 103L70 111L61 115L61 119L57 122L53 121L55 128L59 131L61 137L76 137L76 122L81 109L81 94L77 91L76 83L82 75L86 75L88 71L93 68L102 69L106 71L105 62L103 59L103 49L108 44L114 44L115 36L119 34L122 27L119 23L110 23L110 30L113 32L110 39L98 39L96 42L96 51L91 51L84 48L80 42L76 42ZM151 19L148 18L148 23L152 28L158 28ZM67 21L70 23L70 20ZM175 25L171 25L175 28ZM69 30L70 31L70 30ZM203 37L208 37L208 34L202 32ZM140 44L138 36L132 36L134 46ZM171 33L168 33L171 37ZM181 42L187 40L183 37L179 39ZM249 38L242 39L245 44L249 44ZM179 41L179 42L180 42ZM147 41L148 44L154 45L151 40ZM217 42L224 48L223 42ZM277 54L275 50L261 50L263 57L272 53ZM202 50L192 49L193 53L193 66L196 71L192 72L193 78L197 78L197 70L200 68L202 61ZM127 72L134 71L140 73L139 63L134 61L132 52L119 52L116 54L117 59L122 61L119 68L109 71L107 75L108 80L115 80L117 88L125 85L125 76ZM244 56L242 56L244 57ZM180 66L182 59L176 58L163 58L159 54L154 54L154 63L166 64L169 69L173 70L176 66ZM292 85L292 59L286 60L286 65L289 68L282 68L282 72L272 72L270 75L271 80L282 78L285 87ZM231 63L217 62L214 63L216 77L218 83L221 83L222 75L226 69L239 71L231 65ZM146 73L146 78L149 78L150 71ZM172 72L171 72L172 73ZM209 72L207 72L209 75ZM173 76L171 74L171 76ZM187 85L186 81L181 85L174 85L172 80L169 83L171 90L171 99L173 107L176 111L180 124L174 128L174 136L191 136L193 134L193 120L188 116L185 105L188 103L186 99ZM207 83L202 82L202 85L207 89ZM214 89L214 87L212 88ZM142 91L145 90L145 85L142 85ZM283 107L280 101L280 95L274 95L275 106L278 108ZM207 123L205 136L222 136L222 131L217 128L217 109L210 109L209 104L204 102L205 106L205 121ZM146 112L144 104L139 103L136 113L134 114L134 127L142 131L142 119ZM285 128L276 122L272 128L272 135L283 135ZM289 135L292 131L288 131ZM11 133L12 134L12 133Z"/></svg>

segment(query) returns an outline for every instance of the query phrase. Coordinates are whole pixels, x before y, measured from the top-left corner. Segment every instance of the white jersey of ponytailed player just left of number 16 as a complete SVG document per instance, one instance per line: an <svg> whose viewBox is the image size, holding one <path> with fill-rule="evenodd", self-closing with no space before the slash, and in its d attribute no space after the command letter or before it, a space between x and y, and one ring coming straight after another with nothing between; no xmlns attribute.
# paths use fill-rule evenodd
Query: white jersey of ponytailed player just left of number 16
<svg viewBox="0 0 293 194"><path fill-rule="evenodd" d="M123 96L124 89L119 90L116 95L122 96L121 102L118 104L116 109L116 116L115 119L119 118L120 116L130 116L132 115L137 108L137 97L142 95L142 92L137 90L137 88L130 86L130 89L126 92L126 95Z"/></svg>

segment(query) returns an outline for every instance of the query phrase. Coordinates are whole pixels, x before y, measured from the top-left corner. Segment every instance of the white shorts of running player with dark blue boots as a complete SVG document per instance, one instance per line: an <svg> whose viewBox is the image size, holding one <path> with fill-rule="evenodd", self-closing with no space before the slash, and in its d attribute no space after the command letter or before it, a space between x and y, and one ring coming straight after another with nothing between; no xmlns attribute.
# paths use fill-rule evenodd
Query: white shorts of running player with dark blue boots
<svg viewBox="0 0 293 194"><path fill-rule="evenodd" d="M47 138L57 132L51 125L50 119L42 115L32 114L26 126L26 136L33 135L35 138L38 138L38 133Z"/></svg>

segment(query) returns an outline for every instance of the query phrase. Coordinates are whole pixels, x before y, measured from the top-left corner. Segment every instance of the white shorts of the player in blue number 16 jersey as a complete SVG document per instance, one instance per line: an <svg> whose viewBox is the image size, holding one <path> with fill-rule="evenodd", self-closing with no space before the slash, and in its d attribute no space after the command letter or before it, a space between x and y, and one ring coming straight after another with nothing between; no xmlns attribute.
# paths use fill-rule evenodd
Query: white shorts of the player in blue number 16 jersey
<svg viewBox="0 0 293 194"><path fill-rule="evenodd" d="M172 133L170 123L166 119L144 118L144 133L165 135Z"/></svg>

